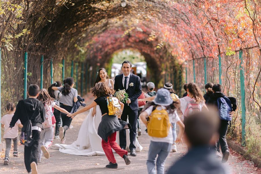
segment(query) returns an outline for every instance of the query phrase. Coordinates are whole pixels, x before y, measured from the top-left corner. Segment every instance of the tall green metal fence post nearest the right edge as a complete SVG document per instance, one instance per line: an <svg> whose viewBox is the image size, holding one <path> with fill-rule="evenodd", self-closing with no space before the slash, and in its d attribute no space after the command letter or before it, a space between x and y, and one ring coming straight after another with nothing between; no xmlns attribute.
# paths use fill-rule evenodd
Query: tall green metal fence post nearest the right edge
<svg viewBox="0 0 261 174"><path fill-rule="evenodd" d="M243 51L239 51L239 59L240 59L240 89L241 89L241 118L242 118L242 146L245 145L245 125L246 125L246 105L245 105L245 76L244 76L244 69L243 69Z"/></svg>

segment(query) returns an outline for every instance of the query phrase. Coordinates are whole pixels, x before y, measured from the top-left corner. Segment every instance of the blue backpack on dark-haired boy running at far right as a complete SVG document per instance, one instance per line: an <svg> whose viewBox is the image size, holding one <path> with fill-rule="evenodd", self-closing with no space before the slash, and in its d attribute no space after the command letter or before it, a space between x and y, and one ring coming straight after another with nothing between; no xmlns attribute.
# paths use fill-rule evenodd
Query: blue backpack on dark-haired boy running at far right
<svg viewBox="0 0 261 174"><path fill-rule="evenodd" d="M232 111L232 104L229 100L229 98L225 97L219 97L218 100L218 112L220 115L220 119L231 121L231 116L229 115L229 112Z"/></svg>

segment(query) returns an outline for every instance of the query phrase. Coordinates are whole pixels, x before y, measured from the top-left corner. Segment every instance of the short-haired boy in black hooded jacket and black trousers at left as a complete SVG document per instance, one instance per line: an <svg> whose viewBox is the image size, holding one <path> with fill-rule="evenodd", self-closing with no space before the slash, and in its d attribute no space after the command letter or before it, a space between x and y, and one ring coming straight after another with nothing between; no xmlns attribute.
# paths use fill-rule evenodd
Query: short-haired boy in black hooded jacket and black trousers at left
<svg viewBox="0 0 261 174"><path fill-rule="evenodd" d="M28 174L37 174L37 157L40 133L43 129L42 123L45 121L45 109L38 99L39 86L32 84L28 87L27 94L29 98L20 100L16 106L14 116L10 122L9 128L5 131L8 132L15 126L18 119L25 125L28 119L32 122L32 144L24 146L24 164Z"/></svg>

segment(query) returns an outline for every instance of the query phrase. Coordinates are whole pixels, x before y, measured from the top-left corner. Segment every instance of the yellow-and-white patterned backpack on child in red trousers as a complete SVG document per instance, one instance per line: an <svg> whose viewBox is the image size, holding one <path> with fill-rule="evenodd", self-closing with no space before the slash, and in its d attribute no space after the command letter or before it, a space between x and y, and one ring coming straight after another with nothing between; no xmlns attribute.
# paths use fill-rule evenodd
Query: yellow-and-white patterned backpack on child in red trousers
<svg viewBox="0 0 261 174"><path fill-rule="evenodd" d="M117 97L107 97L109 115L121 115L122 107Z"/></svg>

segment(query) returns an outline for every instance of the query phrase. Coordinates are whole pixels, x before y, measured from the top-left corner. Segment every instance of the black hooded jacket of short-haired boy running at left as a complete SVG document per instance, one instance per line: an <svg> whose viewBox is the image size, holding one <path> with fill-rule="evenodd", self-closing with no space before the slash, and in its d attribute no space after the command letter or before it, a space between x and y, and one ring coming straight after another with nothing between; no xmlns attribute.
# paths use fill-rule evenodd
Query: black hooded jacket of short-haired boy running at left
<svg viewBox="0 0 261 174"><path fill-rule="evenodd" d="M32 118L34 112L35 114ZM20 119L21 123L24 125L28 121L26 113L32 122L32 126L39 126L43 129L42 123L45 121L46 114L44 104L35 98L28 98L18 102L9 127L14 127L18 119Z"/></svg>

